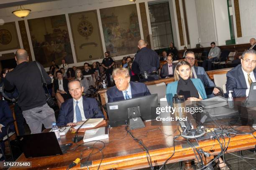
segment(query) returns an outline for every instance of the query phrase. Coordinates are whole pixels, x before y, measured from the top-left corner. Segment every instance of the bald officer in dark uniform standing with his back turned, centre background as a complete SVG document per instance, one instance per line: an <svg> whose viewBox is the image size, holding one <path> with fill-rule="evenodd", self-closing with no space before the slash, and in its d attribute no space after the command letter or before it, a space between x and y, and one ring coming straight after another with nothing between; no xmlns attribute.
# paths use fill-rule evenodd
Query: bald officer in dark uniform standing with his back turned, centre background
<svg viewBox="0 0 256 170"><path fill-rule="evenodd" d="M140 51L135 55L132 70L135 74L143 74L144 71L152 73L159 68L159 57L154 50L148 49L144 40L138 41ZM148 76L148 79L158 79L156 76Z"/></svg>

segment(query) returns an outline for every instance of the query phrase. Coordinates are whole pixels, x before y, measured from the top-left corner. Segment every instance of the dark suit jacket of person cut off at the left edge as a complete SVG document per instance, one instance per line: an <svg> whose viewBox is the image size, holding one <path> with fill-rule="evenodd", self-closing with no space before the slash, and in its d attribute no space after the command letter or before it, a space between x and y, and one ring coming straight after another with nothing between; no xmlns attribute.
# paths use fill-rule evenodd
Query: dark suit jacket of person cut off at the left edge
<svg viewBox="0 0 256 170"><path fill-rule="evenodd" d="M0 100L0 124L7 126L13 121L13 114L8 103L5 100ZM10 130L14 130L13 123L10 124Z"/></svg>

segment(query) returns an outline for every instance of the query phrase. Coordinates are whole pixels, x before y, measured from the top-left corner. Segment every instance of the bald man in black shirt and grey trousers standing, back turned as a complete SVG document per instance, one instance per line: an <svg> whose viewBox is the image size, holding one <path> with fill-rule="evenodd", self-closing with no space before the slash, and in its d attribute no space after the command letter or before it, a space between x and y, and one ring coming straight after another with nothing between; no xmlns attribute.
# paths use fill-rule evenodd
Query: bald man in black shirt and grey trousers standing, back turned
<svg viewBox="0 0 256 170"><path fill-rule="evenodd" d="M45 128L51 128L52 123L56 122L54 110L46 102L41 72L36 62L28 62L28 52L24 49L16 51L15 60L18 65L5 76L5 90L17 88L18 104L31 133L41 133L42 124ZM39 65L46 83L50 84L51 77Z"/></svg>

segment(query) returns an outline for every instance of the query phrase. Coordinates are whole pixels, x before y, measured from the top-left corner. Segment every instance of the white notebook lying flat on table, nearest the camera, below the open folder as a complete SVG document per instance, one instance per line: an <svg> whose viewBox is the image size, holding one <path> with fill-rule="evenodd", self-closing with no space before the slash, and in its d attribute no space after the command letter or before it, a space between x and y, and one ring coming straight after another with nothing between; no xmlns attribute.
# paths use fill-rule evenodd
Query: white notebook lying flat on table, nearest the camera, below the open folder
<svg viewBox="0 0 256 170"><path fill-rule="evenodd" d="M84 133L84 142L92 140L108 139L108 127L86 130Z"/></svg>

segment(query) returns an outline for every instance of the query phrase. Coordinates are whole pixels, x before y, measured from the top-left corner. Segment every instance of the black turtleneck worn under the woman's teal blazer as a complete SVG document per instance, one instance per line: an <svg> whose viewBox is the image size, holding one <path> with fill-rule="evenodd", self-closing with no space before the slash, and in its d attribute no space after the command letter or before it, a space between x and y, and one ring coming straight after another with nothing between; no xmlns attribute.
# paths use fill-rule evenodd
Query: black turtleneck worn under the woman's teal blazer
<svg viewBox="0 0 256 170"><path fill-rule="evenodd" d="M183 80L180 76L177 87L177 95L184 95L185 100L187 100L189 97L199 98L198 91L190 78Z"/></svg>

